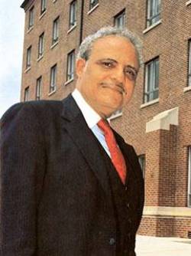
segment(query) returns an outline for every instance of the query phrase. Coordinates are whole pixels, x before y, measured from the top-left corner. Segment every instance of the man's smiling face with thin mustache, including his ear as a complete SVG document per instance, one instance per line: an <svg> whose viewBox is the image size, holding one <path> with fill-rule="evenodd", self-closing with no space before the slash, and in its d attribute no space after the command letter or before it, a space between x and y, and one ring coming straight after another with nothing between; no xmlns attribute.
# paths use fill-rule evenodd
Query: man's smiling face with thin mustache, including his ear
<svg viewBox="0 0 191 256"><path fill-rule="evenodd" d="M106 36L93 43L88 61L76 61L76 88L101 117L109 117L131 99L138 68L134 45Z"/></svg>

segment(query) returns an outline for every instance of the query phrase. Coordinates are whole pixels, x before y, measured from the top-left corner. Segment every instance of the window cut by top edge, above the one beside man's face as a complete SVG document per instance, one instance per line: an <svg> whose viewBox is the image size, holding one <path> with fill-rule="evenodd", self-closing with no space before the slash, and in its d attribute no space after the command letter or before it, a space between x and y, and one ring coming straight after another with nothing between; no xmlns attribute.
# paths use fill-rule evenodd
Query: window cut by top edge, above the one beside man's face
<svg viewBox="0 0 191 256"><path fill-rule="evenodd" d="M160 20L160 0L147 0L147 28Z"/></svg>

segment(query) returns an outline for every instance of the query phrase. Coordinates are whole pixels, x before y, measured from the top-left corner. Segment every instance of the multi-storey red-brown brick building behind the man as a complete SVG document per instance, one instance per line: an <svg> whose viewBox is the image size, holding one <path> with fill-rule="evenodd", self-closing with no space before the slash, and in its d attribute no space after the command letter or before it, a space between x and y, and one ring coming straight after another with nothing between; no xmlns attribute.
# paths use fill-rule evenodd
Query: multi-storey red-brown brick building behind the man
<svg viewBox="0 0 191 256"><path fill-rule="evenodd" d="M21 100L60 100L75 87L86 35L125 26L144 44L131 103L112 126L134 145L146 202L139 233L191 237L191 1L25 0Z"/></svg>

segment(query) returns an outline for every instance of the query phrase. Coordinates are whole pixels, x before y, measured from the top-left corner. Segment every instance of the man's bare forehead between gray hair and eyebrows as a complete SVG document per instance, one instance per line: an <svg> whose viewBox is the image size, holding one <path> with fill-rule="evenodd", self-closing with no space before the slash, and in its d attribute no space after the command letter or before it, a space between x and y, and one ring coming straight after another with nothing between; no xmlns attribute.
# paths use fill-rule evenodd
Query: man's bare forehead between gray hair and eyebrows
<svg viewBox="0 0 191 256"><path fill-rule="evenodd" d="M134 45L128 38L118 35L108 35L97 39L92 44L90 58L115 57L118 60L134 60L138 62L138 54Z"/></svg>

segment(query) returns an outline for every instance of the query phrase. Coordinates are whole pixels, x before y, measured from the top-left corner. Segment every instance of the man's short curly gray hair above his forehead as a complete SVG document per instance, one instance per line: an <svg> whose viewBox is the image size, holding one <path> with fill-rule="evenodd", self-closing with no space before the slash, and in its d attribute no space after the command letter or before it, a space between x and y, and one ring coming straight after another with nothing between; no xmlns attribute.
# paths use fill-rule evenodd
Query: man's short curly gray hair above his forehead
<svg viewBox="0 0 191 256"><path fill-rule="evenodd" d="M100 28L99 31L95 32L95 34L90 34L88 37L86 37L79 46L79 51L76 58L83 58L87 61L89 59L93 43L99 38L105 38L108 35L124 37L131 41L131 44L134 45L134 48L137 51L139 64L142 63L142 44L138 36L133 34L127 28L116 28L110 26Z"/></svg>

